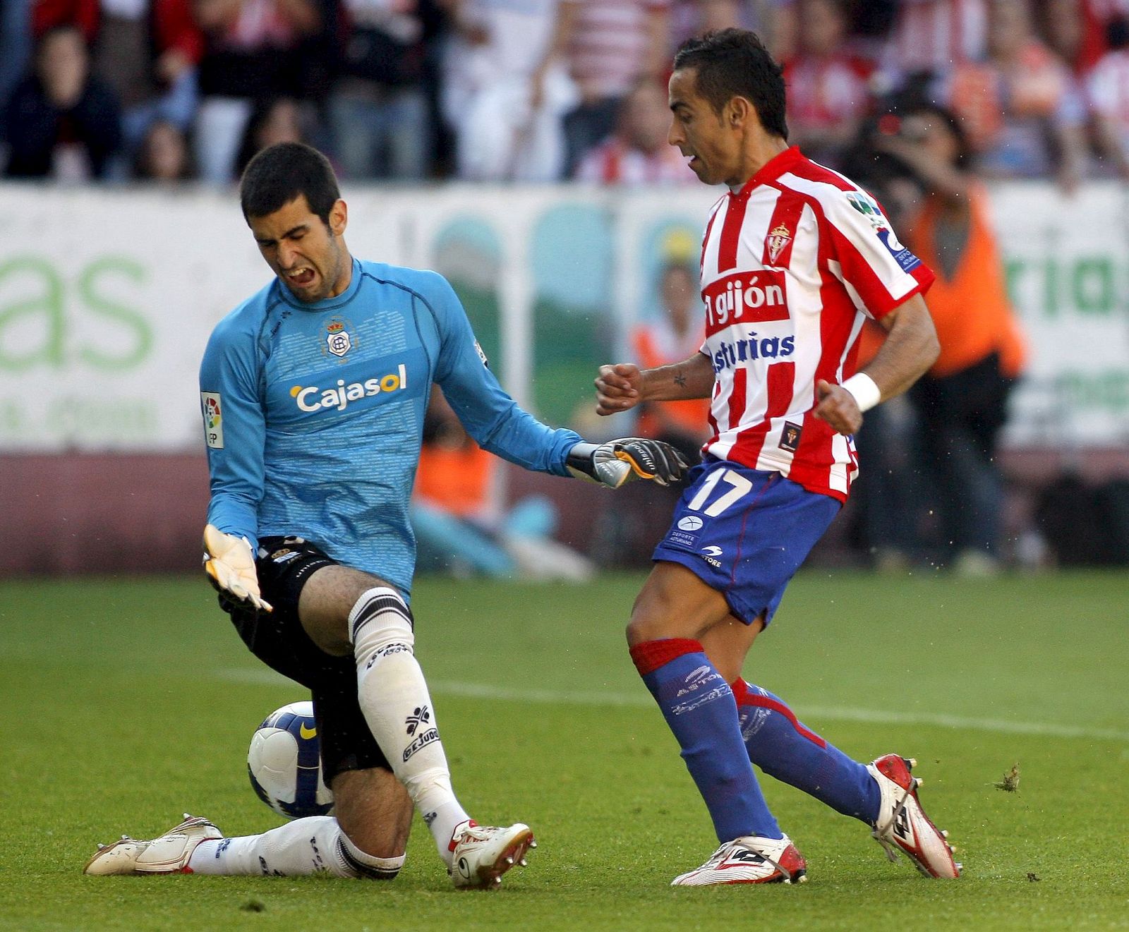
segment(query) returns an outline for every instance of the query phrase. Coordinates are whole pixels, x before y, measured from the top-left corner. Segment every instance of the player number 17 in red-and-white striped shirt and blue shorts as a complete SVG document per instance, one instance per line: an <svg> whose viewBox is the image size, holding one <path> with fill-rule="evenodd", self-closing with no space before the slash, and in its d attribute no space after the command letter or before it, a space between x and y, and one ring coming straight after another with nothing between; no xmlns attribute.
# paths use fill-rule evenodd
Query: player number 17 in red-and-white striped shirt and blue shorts
<svg viewBox="0 0 1129 932"><path fill-rule="evenodd" d="M847 499L863 413L937 357L922 292L933 273L875 201L787 143L780 68L750 32L682 45L669 142L729 191L702 244L706 341L683 362L604 366L597 411L711 399L702 463L675 508L628 626L631 657L706 801L720 847L676 886L794 882L807 865L753 764L872 827L929 877L957 877L944 833L890 754L857 763L746 683L742 663L784 589ZM867 317L886 341L864 372Z"/></svg>

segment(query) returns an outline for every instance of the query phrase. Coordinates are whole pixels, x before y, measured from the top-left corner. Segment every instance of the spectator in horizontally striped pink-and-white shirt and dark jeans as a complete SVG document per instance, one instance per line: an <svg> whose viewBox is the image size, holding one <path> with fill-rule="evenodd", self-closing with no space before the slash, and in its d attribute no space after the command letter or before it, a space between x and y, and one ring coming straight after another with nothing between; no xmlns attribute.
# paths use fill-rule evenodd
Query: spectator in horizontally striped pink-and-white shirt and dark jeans
<svg viewBox="0 0 1129 932"><path fill-rule="evenodd" d="M669 0L561 0L558 16L558 41L580 94L564 115L564 173L571 175L614 132L631 88L665 70Z"/></svg>

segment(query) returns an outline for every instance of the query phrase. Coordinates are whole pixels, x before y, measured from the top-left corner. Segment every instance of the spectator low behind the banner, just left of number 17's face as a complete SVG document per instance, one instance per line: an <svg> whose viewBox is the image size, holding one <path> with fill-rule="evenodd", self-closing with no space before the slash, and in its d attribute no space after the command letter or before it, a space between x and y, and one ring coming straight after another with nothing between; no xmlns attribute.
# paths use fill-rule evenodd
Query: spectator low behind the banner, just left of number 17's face
<svg viewBox="0 0 1129 932"><path fill-rule="evenodd" d="M666 142L669 123L666 91L645 78L623 99L615 133L580 160L577 179L623 185L692 183L694 175L685 159Z"/></svg>

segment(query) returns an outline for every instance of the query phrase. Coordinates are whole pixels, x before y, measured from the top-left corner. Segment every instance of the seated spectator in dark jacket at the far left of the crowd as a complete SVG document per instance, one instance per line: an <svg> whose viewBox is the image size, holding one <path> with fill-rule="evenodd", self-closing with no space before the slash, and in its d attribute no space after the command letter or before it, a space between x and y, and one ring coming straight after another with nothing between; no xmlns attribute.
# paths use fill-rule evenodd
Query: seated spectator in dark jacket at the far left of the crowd
<svg viewBox="0 0 1129 932"><path fill-rule="evenodd" d="M0 123L10 178L104 178L122 143L117 98L90 73L76 26L40 36L34 72L17 86Z"/></svg>

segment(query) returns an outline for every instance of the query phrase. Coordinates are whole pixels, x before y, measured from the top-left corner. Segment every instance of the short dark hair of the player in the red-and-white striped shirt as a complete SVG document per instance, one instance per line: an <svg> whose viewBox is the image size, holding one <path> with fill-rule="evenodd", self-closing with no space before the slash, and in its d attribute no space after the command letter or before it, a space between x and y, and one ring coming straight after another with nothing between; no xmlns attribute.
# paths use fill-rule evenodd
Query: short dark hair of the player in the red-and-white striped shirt
<svg viewBox="0 0 1129 932"><path fill-rule="evenodd" d="M784 68L772 61L756 33L718 29L688 38L674 55L674 70L684 68L694 69L698 94L715 113L734 97L744 97L767 132L788 138Z"/></svg>

